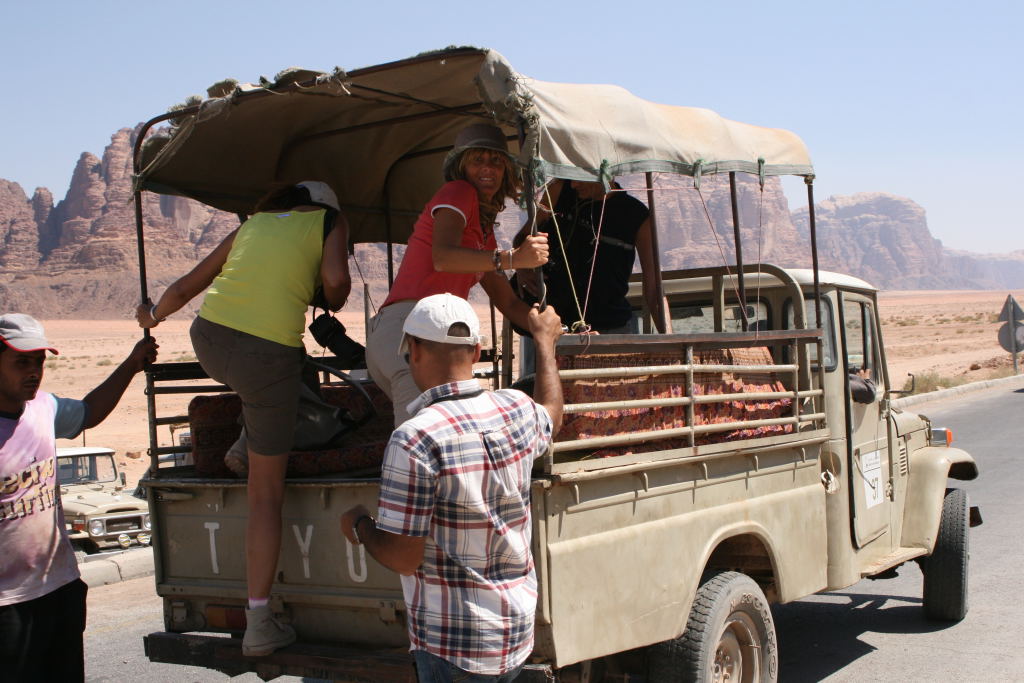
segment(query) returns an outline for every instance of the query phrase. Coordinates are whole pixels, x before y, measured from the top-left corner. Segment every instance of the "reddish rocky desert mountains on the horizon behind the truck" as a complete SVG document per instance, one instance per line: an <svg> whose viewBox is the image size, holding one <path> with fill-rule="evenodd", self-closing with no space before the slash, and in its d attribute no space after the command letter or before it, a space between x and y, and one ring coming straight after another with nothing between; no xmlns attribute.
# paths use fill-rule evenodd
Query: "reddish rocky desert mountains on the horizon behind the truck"
<svg viewBox="0 0 1024 683"><path fill-rule="evenodd" d="M40 317L128 316L139 298L138 255L131 188L136 131L123 128L102 158L83 154L65 199L49 189L28 196L0 179L0 310ZM647 201L643 176L621 179ZM737 177L743 259L807 266L807 209L791 213L777 178L762 190ZM663 266L734 262L727 176L706 176L699 190L689 178L658 175L655 211ZM234 216L174 197L143 196L148 285L155 292L183 273L237 224ZM885 289L1009 289L1024 287L1024 251L979 255L942 247L925 211L911 200L884 193L831 197L816 206L822 268L863 278ZM521 223L515 210L500 218L502 244ZM400 253L400 252L399 252ZM360 246L351 264L360 299L365 281L374 301L386 289L384 250ZM361 305L353 301L350 305Z"/></svg>

